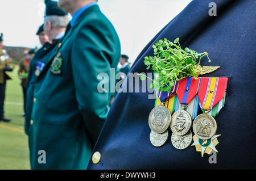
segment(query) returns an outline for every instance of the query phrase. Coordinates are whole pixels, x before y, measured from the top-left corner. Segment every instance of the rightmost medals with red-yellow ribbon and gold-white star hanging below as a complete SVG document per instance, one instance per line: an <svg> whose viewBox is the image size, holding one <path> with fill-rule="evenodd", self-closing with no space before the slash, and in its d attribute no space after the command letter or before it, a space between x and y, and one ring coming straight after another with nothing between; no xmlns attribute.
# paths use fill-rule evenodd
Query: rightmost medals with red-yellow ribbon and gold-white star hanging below
<svg viewBox="0 0 256 181"><path fill-rule="evenodd" d="M214 116L224 107L227 83L228 78L201 78L198 96L199 105L204 113L193 121L195 135L192 144L192 146L196 146L196 151L201 151L201 157L204 156L204 153L210 154L212 150L218 152L215 146L218 144L217 137L220 134L215 135L217 123Z"/></svg>

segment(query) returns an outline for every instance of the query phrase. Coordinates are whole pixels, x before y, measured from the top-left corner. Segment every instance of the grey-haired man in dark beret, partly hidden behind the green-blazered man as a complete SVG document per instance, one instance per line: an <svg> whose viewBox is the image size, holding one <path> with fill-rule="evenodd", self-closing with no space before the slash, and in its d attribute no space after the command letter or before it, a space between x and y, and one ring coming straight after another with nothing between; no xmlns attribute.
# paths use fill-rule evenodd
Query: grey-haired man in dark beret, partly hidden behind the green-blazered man
<svg viewBox="0 0 256 181"><path fill-rule="evenodd" d="M63 11L57 6L57 2L55 1L47 1L46 2L46 16L44 17L44 32L49 38L49 41L51 43L45 43L43 45L43 53L39 54L36 53L36 61L38 62L36 67L33 68L33 71L31 72L31 80L28 85L28 91L27 96L29 96L29 99L27 98L27 106L26 106L26 121L25 121L25 131L28 134L28 143L30 148L30 164L31 169L40 169L40 167L46 165L46 164L39 164L38 162L38 145L39 144L45 144L48 141L44 138L38 137L40 133L42 133L42 128L47 127L47 123L43 123L42 121L38 119L34 119L34 107L37 104L40 104L41 100L38 99L35 95L38 90L42 89L42 83L47 81L45 78L45 72L48 70L49 65L52 58L55 56L56 50L59 48L59 40L61 40L65 35L66 27L69 23L69 17L67 12ZM44 50L46 49L46 50ZM51 86L55 84L54 81L50 81ZM51 86L48 88L50 89ZM47 94L48 90L43 90L42 95ZM55 92L55 94L59 94L58 92ZM50 103L47 103L50 104ZM51 105L49 105L51 106ZM44 104L44 107L47 107L46 104ZM42 108L41 111L45 110L45 108ZM38 115L38 113L36 113ZM39 114L40 115L40 114ZM41 115L42 116L42 115ZM44 115L46 116L46 115ZM43 116L43 117L44 117ZM56 120L58 121L58 120ZM48 132L48 131L47 131ZM44 133L47 133L44 132ZM51 132L49 130L49 132ZM53 138L54 139L54 138ZM54 148L54 144L50 144L52 148ZM43 148L43 146L40 146ZM43 148L47 151L47 148ZM66 150L67 151L67 150ZM59 154L59 153L57 153ZM55 157L55 154L52 155ZM52 157L49 155L47 157L48 162L52 162Z"/></svg>

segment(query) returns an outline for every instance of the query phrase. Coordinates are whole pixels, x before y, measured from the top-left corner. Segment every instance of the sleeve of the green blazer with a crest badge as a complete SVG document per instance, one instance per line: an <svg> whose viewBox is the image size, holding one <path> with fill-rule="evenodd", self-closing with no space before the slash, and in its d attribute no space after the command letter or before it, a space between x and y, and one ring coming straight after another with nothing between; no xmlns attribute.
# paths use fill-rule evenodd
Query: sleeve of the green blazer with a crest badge
<svg viewBox="0 0 256 181"><path fill-rule="evenodd" d="M108 24L94 19L80 27L71 53L73 81L79 110L93 140L96 141L109 111L109 90L99 92L100 73L110 78L110 62L115 53L114 36Z"/></svg>

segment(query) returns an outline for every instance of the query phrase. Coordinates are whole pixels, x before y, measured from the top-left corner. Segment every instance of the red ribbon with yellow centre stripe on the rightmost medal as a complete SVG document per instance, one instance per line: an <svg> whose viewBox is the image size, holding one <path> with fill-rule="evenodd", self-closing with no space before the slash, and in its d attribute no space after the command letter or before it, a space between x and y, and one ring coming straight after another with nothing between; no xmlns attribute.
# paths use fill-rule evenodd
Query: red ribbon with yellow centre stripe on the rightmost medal
<svg viewBox="0 0 256 181"><path fill-rule="evenodd" d="M201 77L198 96L202 110L212 110L224 98L227 83L227 77Z"/></svg>

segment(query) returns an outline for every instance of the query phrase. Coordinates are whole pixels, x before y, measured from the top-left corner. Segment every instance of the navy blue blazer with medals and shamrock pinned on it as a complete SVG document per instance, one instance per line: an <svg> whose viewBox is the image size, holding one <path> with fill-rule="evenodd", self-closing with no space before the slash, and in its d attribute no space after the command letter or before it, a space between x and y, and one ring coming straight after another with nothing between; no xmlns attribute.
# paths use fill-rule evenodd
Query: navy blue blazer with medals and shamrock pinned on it
<svg viewBox="0 0 256 181"><path fill-rule="evenodd" d="M216 3L217 16L209 16L210 2ZM216 116L216 134L221 134L217 163L210 164L208 154L201 158L195 146L175 149L171 136L160 148L151 145L151 93L119 93L94 148L100 162L91 159L88 169L256 169L255 6L254 0L192 1L146 45L130 70L152 72L143 63L153 55L152 45L179 37L183 48L209 53L212 62L205 58L201 65L221 66L203 77L231 76L225 107Z"/></svg>

